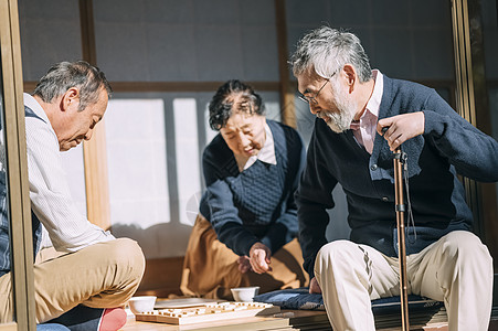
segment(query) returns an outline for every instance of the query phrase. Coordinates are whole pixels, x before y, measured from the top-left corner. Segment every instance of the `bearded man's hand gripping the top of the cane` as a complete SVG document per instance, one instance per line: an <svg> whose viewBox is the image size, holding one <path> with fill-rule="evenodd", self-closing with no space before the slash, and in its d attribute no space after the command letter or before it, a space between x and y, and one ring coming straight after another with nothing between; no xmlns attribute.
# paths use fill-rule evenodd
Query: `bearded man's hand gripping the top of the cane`
<svg viewBox="0 0 498 331"><path fill-rule="evenodd" d="M383 127L389 127L385 134L382 134ZM423 135L424 129L425 116L422 111L383 118L377 124L377 131L388 140L391 151L394 151L406 140Z"/></svg>

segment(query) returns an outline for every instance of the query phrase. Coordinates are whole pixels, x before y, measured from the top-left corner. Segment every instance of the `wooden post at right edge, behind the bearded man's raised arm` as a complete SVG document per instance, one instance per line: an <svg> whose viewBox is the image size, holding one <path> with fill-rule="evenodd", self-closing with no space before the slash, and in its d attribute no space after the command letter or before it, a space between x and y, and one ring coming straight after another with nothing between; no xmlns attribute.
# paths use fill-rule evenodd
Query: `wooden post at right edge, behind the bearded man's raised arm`
<svg viewBox="0 0 498 331"><path fill-rule="evenodd" d="M452 21L457 111L475 127L491 135L479 0L453 0ZM475 232L491 252L496 269L498 212L495 184L469 179L464 179L464 183L467 202L474 213Z"/></svg>

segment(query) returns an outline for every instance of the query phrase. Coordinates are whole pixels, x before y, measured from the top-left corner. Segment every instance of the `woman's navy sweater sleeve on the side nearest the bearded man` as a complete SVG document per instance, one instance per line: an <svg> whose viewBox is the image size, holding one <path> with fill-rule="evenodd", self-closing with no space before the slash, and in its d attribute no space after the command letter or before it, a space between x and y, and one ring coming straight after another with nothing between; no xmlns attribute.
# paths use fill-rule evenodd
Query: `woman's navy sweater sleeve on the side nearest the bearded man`
<svg viewBox="0 0 498 331"><path fill-rule="evenodd" d="M290 190L288 192L288 197L285 203L285 211L278 217L278 220L272 225L266 235L261 239L261 242L266 245L272 254L275 254L285 244L294 239L298 233L297 224L297 205L294 199L294 194L299 184L299 178L303 173L303 168L305 167L306 160L306 149L303 141L300 140L298 134L296 132L296 146L293 148L299 149L300 152L296 153L295 160L289 160L289 163L297 163L298 167L295 172L293 172L293 182L289 185Z"/></svg>

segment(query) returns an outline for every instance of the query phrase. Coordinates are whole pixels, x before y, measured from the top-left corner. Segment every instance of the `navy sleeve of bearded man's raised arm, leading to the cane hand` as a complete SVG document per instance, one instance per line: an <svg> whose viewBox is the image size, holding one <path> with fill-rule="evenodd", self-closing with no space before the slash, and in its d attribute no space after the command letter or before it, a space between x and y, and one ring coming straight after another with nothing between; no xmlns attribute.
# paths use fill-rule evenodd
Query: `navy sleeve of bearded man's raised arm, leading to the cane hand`
<svg viewBox="0 0 498 331"><path fill-rule="evenodd" d="M459 174L498 181L498 142L462 118L434 90L424 110L424 137L455 166Z"/></svg>

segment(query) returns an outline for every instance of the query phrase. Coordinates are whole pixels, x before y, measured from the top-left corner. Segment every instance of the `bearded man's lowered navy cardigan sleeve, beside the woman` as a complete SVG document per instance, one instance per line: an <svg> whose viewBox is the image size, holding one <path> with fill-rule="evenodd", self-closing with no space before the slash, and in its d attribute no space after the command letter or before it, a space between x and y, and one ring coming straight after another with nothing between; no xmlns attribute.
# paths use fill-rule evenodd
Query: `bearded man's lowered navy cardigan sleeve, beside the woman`
<svg viewBox="0 0 498 331"><path fill-rule="evenodd" d="M321 119L320 119L321 120ZM329 223L328 209L333 207L332 190L337 180L322 161L322 146L317 137L317 126L309 142L306 167L296 192L299 243L303 249L304 268L315 277L315 258L327 244L326 228Z"/></svg>

